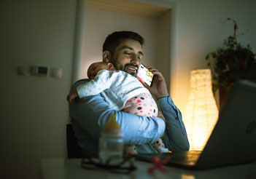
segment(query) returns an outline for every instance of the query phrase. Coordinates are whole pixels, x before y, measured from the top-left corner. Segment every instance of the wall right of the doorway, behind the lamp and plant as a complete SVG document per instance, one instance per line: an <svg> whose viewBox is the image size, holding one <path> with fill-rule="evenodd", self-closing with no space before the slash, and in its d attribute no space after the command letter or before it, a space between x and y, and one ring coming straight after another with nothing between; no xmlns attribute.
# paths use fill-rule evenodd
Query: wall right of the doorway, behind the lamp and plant
<svg viewBox="0 0 256 179"><path fill-rule="evenodd" d="M241 44L251 44L256 52L255 0L179 0L174 7L175 55L171 60L171 95L185 112L190 89L190 71L207 68L206 54L221 47L233 34L233 23L221 23L227 17L238 24ZM248 28L249 26L249 28ZM248 31L247 31L248 30Z"/></svg>

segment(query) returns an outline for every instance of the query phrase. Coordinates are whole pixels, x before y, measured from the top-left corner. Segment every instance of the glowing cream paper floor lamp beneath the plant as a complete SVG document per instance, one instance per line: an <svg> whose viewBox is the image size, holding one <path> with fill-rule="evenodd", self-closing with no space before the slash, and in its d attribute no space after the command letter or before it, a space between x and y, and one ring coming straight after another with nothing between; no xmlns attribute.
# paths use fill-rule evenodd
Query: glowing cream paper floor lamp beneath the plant
<svg viewBox="0 0 256 179"><path fill-rule="evenodd" d="M202 151L218 119L210 69L190 72L190 94L184 116L190 150Z"/></svg>

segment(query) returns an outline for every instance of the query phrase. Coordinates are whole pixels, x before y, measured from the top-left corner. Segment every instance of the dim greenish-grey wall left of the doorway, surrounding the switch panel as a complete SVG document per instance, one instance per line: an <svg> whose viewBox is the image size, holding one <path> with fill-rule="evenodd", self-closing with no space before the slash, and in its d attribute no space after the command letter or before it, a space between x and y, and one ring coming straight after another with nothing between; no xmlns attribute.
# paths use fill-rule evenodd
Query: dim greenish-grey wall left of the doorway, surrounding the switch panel
<svg viewBox="0 0 256 179"><path fill-rule="evenodd" d="M1 1L0 178L39 178L40 160L66 156L76 1ZM18 76L18 65L62 78Z"/></svg>

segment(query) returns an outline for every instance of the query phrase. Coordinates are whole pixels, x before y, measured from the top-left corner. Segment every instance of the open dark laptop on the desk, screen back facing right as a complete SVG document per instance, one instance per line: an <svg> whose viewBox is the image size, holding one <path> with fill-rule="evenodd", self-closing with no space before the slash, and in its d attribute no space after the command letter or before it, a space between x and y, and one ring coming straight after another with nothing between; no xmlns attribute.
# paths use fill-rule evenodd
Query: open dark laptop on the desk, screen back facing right
<svg viewBox="0 0 256 179"><path fill-rule="evenodd" d="M230 91L227 102L203 151L166 154L137 154L136 159L151 162L153 156L166 165L201 170L256 161L256 84L241 80Z"/></svg>

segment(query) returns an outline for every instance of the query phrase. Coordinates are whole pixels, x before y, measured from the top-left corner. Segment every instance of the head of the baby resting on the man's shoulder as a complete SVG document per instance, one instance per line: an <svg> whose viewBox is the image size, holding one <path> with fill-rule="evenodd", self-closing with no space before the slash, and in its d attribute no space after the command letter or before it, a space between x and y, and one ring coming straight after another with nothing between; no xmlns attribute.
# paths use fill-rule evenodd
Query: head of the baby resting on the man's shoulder
<svg viewBox="0 0 256 179"><path fill-rule="evenodd" d="M109 62L96 62L92 63L87 71L87 76L89 79L94 79L94 77L97 75L98 71L101 70L109 70L109 71L115 71L115 67L112 63Z"/></svg>

